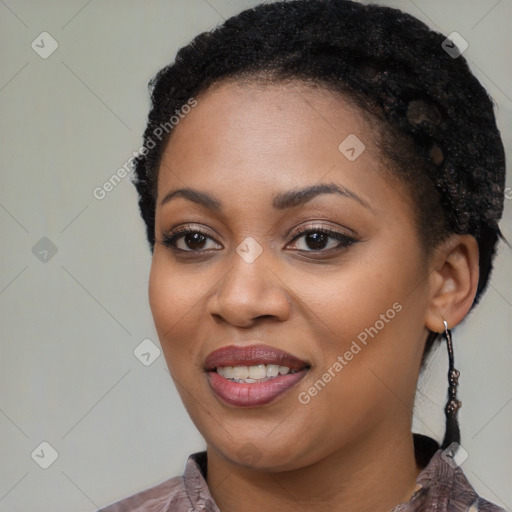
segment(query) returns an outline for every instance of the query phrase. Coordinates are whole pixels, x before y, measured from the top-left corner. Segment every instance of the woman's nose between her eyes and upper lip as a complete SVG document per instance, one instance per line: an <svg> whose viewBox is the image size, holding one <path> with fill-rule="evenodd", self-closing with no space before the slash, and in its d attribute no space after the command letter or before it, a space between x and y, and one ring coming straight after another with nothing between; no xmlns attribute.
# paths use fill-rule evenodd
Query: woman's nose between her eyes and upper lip
<svg viewBox="0 0 512 512"><path fill-rule="evenodd" d="M217 284L207 308L214 318L246 328L263 318L286 320L290 299L286 286L263 257L247 263L234 254L232 266Z"/></svg>

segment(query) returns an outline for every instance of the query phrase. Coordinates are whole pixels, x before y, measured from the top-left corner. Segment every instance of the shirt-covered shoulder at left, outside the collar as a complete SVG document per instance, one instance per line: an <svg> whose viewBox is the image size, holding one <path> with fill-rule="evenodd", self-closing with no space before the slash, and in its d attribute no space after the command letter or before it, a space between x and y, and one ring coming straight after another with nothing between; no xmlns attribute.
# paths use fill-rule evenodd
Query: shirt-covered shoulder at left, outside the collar
<svg viewBox="0 0 512 512"><path fill-rule="evenodd" d="M190 507L183 477L177 476L102 508L99 512L188 511Z"/></svg>

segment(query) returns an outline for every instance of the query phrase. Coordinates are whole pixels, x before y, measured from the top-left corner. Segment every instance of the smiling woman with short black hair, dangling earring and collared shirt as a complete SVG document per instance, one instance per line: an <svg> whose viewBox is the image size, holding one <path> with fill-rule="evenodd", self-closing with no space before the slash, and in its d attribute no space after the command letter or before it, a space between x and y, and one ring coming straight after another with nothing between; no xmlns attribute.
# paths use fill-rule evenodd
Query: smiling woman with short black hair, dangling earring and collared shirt
<svg viewBox="0 0 512 512"><path fill-rule="evenodd" d="M505 163L445 36L346 0L262 4L152 81L149 300L207 450L106 511L498 511L456 457L451 329L489 280ZM411 433L433 345L446 434Z"/></svg>

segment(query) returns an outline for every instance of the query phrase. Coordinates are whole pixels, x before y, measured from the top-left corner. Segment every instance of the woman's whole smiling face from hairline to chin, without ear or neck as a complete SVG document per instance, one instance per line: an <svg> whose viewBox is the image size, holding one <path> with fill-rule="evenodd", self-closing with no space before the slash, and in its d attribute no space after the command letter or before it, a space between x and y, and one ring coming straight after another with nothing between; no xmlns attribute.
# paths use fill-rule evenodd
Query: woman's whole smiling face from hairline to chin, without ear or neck
<svg viewBox="0 0 512 512"><path fill-rule="evenodd" d="M223 83L173 130L149 299L180 396L226 460L281 471L410 435L429 271L373 137L300 84Z"/></svg>

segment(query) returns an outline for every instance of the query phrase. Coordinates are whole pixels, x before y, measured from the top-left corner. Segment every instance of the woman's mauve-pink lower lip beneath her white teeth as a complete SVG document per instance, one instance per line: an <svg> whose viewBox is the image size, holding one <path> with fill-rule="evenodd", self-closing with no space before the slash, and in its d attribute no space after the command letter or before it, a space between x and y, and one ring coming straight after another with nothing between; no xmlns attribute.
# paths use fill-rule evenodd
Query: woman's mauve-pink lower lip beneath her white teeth
<svg viewBox="0 0 512 512"><path fill-rule="evenodd" d="M208 382L225 402L236 407L266 405L297 384L307 373L307 368L296 373L279 375L265 382L246 384L225 379L215 371L208 372Z"/></svg>

